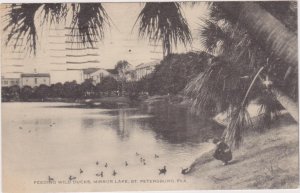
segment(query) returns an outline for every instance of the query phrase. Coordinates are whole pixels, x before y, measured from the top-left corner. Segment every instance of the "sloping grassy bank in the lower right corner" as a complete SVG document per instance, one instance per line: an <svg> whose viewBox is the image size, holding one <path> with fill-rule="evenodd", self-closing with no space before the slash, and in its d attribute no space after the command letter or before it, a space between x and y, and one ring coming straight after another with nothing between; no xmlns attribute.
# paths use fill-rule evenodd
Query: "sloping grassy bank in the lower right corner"
<svg viewBox="0 0 300 193"><path fill-rule="evenodd" d="M270 130L246 136L231 164L198 158L188 175L205 180L210 189L298 188L298 148L298 125L283 115Z"/></svg>

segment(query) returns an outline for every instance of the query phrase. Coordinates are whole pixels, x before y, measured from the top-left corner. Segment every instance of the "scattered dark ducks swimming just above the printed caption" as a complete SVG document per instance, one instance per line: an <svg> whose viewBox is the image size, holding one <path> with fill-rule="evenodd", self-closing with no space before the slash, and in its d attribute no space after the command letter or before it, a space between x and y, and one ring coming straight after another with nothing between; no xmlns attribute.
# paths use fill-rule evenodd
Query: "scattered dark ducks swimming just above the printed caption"
<svg viewBox="0 0 300 193"><path fill-rule="evenodd" d="M143 158L138 152L136 152L135 155L138 156L138 157L140 158L139 160L140 160L140 163L141 163L141 164L146 165L146 159L145 159L145 158ZM155 159L158 159L158 158L159 158L159 155L154 154L154 158L155 158ZM100 165L99 161L96 161L96 166L99 166L99 165ZM129 163L128 163L127 161L125 161L125 162L124 162L124 166L127 167L128 165L129 165ZM108 167L109 167L109 165L108 165L107 162L104 164L104 167L105 167L105 168L108 168ZM181 170L181 174L187 174L188 169L189 169L189 168L182 169L182 170ZM79 175L81 175L82 173L84 173L84 171L83 171L83 169L80 168L80 169L79 169ZM167 173L167 167L166 167L166 166L163 166L162 168L158 169L158 175L162 175L162 174L163 174L163 175L166 175L166 173ZM114 169L111 175L112 175L112 176L116 176L117 174L118 174L118 172ZM102 177L104 177L104 172L103 172L103 171L100 171L100 172L96 173L95 176L101 177L101 178L102 178ZM68 178L68 180L72 181L72 180L76 180L76 178L77 178L76 176L70 175L69 178ZM51 177L51 176L48 176L48 180L49 180L49 181L53 181L54 178Z"/></svg>

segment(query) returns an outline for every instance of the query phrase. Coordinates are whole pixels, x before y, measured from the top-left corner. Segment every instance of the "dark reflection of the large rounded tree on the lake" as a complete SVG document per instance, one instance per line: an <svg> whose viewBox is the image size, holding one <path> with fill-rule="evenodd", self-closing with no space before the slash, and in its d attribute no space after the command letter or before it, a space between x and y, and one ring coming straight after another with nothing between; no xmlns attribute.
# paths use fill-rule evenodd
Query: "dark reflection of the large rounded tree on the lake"
<svg viewBox="0 0 300 193"><path fill-rule="evenodd" d="M147 107L145 111L155 115L148 121L158 140L171 144L193 145L219 137L222 129L209 119L192 115L183 107L160 104L160 108Z"/></svg>

